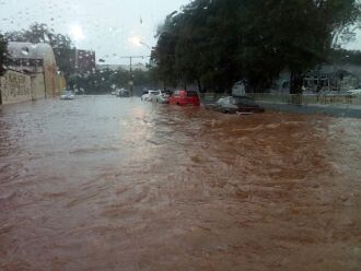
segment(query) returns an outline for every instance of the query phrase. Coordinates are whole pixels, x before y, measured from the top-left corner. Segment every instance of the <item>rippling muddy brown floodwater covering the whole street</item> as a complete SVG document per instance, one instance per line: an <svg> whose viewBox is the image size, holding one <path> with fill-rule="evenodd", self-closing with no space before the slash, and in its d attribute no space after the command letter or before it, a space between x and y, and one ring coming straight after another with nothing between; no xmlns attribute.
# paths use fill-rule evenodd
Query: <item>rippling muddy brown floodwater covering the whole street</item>
<svg viewBox="0 0 361 271"><path fill-rule="evenodd" d="M361 270L360 119L85 96L0 129L0 270Z"/></svg>

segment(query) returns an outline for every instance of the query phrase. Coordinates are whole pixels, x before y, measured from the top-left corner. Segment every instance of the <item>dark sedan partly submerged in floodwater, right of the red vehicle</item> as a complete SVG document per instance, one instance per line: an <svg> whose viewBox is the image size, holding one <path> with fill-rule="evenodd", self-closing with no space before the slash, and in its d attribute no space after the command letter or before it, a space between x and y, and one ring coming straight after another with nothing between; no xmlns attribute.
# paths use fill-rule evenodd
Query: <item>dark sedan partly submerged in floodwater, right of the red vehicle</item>
<svg viewBox="0 0 361 271"><path fill-rule="evenodd" d="M265 111L253 98L247 96L226 96L217 101L216 104L207 105L206 108L230 114Z"/></svg>

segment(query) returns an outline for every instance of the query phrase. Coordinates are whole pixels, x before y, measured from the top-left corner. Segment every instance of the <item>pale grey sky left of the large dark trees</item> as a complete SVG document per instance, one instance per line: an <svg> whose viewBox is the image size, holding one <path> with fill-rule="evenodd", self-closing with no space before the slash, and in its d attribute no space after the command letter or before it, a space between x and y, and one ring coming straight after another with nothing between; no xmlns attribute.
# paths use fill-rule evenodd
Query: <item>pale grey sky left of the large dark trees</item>
<svg viewBox="0 0 361 271"><path fill-rule="evenodd" d="M164 17L189 0L0 0L0 32L46 23L68 34L78 48L93 49L105 63L120 56L149 56ZM138 60L137 60L138 61ZM142 61L141 59L139 61ZM144 62L145 60L143 60Z"/></svg>

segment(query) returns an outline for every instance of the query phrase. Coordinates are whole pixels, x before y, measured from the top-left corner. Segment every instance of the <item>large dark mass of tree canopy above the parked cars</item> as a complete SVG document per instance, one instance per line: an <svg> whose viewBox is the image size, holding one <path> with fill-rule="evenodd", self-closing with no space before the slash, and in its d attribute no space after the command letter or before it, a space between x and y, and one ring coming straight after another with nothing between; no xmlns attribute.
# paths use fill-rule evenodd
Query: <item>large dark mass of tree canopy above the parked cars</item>
<svg viewBox="0 0 361 271"><path fill-rule="evenodd" d="M298 92L359 14L356 0L194 0L159 27L153 73L173 86L222 92L242 80L260 92L288 69Z"/></svg>

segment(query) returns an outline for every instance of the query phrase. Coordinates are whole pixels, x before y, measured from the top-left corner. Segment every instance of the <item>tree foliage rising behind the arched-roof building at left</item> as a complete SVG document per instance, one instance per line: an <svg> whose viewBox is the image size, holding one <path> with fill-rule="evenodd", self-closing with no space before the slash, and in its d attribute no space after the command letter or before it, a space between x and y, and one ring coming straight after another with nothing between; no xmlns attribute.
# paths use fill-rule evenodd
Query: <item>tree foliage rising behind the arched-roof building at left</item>
<svg viewBox="0 0 361 271"><path fill-rule="evenodd" d="M74 72L70 58L72 57L72 42L69 36L57 34L46 24L34 23L28 30L5 33L9 42L47 43L51 46L58 69L68 78Z"/></svg>

